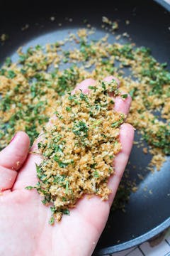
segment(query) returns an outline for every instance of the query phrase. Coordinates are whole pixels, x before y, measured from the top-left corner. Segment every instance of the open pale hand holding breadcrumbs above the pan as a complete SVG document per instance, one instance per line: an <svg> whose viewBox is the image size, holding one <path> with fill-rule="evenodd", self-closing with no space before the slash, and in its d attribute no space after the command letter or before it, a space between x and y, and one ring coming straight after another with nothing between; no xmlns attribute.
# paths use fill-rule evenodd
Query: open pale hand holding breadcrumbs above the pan
<svg viewBox="0 0 170 256"><path fill-rule="evenodd" d="M113 77L106 78L111 80ZM86 92L94 80L81 82L76 89ZM125 100L115 98L115 110L128 114L130 96ZM0 255L7 256L89 256L108 219L113 198L127 164L134 129L130 124L120 128L122 150L115 157L115 175L109 187L108 201L97 196L79 200L70 215L63 215L60 223L48 224L50 209L43 206L37 191L26 186L37 183L35 163L41 157L28 154L30 140L25 132L18 132L11 143L0 152ZM26 158L27 157L27 158Z"/></svg>

